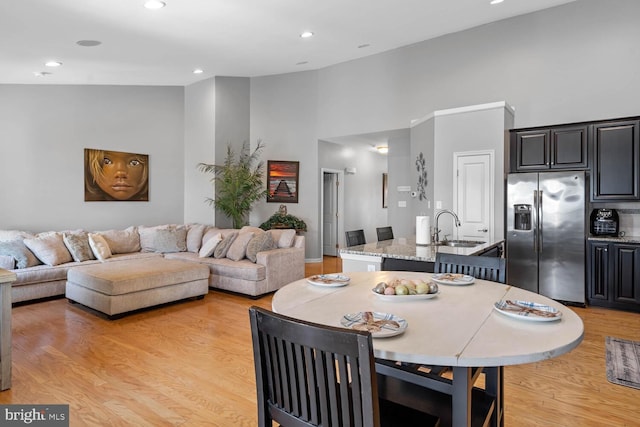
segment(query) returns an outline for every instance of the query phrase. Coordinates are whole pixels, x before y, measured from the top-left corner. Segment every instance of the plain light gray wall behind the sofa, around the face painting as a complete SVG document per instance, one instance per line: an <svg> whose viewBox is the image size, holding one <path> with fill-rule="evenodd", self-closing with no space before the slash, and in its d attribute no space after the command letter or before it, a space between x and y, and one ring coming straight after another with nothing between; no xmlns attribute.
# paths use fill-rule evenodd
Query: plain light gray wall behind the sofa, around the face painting
<svg viewBox="0 0 640 427"><path fill-rule="evenodd" d="M182 87L0 85L0 227L182 222ZM149 202L85 202L84 148L149 155Z"/></svg>

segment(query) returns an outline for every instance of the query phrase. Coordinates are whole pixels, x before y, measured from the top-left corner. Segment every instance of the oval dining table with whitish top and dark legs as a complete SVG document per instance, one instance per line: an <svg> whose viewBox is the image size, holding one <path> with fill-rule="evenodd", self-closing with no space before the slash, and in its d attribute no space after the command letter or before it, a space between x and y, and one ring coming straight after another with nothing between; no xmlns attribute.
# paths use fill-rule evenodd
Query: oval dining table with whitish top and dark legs
<svg viewBox="0 0 640 427"><path fill-rule="evenodd" d="M275 293L272 308L293 318L339 327L345 327L345 315L360 312L400 317L407 324L403 333L385 338L374 335L375 357L451 367L453 378L449 382L422 378L384 363L376 364L377 371L418 387L413 390L428 390L430 394L425 396L450 396L448 420L455 427L475 425L478 411L474 409L482 405L488 407L489 424L503 425L504 366L560 356L577 347L584 335L582 320L569 307L508 284L473 279L471 284L439 284L435 296L394 300L373 292L373 288L380 282L402 279L431 281L432 274L375 271L341 275L349 279L344 286L312 284L308 278L290 283ZM495 307L506 300L542 304L560 313L553 319L509 315ZM474 387L480 373L485 374L482 391Z"/></svg>

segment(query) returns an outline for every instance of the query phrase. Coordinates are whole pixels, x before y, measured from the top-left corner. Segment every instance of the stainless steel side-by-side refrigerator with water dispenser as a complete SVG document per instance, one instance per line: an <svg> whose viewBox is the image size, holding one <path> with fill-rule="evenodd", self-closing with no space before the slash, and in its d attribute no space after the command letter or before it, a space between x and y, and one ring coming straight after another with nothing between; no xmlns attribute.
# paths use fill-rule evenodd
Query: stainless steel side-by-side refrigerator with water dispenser
<svg viewBox="0 0 640 427"><path fill-rule="evenodd" d="M509 174L509 285L584 304L585 182L576 171Z"/></svg>

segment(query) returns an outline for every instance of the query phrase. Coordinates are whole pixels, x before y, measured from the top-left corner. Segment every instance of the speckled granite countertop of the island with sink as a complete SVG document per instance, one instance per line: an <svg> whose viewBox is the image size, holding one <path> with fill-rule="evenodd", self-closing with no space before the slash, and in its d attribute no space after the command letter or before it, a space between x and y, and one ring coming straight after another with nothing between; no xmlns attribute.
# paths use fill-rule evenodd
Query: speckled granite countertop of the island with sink
<svg viewBox="0 0 640 427"><path fill-rule="evenodd" d="M472 248L461 248L451 246L416 245L415 238L401 237L393 240L383 240L381 242L341 248L340 256L346 255L344 258L347 258L349 255L367 255L382 258L434 262L438 252L457 255L477 255L487 249L502 244L502 242L504 242L504 240L487 242Z"/></svg>

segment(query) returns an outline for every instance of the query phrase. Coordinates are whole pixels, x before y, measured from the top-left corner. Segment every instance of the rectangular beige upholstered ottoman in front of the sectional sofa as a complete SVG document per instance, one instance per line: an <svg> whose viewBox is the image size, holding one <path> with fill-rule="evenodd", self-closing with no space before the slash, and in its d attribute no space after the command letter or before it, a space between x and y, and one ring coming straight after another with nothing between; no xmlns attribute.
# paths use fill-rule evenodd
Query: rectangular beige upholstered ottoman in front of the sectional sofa
<svg viewBox="0 0 640 427"><path fill-rule="evenodd" d="M67 273L66 297L111 318L123 313L204 297L209 268L193 262L145 258L74 267Z"/></svg>

